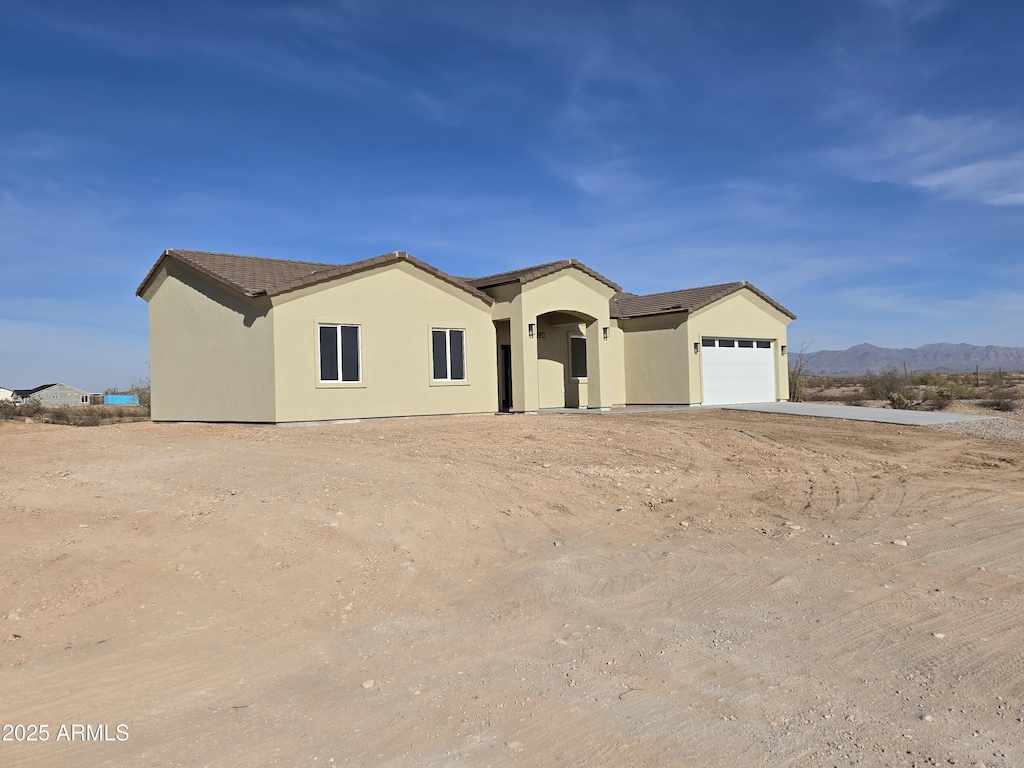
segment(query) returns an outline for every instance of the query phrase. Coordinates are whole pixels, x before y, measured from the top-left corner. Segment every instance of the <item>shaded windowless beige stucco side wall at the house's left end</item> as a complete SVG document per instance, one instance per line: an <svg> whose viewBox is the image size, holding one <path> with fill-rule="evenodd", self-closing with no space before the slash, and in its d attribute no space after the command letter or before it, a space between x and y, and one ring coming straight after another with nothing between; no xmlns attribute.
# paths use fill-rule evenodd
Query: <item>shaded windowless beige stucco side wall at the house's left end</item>
<svg viewBox="0 0 1024 768"><path fill-rule="evenodd" d="M154 421L274 421L268 300L220 289L172 260L142 298Z"/></svg>

